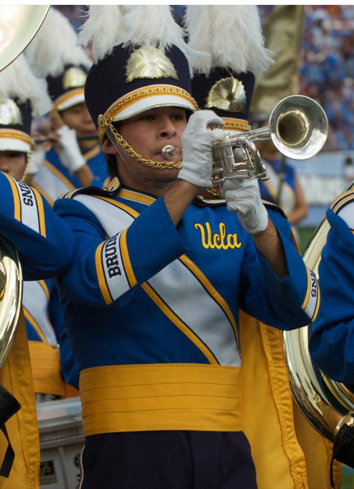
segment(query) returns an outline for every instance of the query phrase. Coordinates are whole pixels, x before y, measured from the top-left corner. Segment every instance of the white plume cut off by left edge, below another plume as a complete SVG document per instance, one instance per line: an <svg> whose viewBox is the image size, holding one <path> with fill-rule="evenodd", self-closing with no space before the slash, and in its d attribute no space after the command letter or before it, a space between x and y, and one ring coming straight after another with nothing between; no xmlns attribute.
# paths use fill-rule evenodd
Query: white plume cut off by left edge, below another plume
<svg viewBox="0 0 354 489"><path fill-rule="evenodd" d="M23 55L0 72L0 99L4 98L17 98L21 103L29 101L32 117L40 117L52 107L46 81L34 76Z"/></svg>

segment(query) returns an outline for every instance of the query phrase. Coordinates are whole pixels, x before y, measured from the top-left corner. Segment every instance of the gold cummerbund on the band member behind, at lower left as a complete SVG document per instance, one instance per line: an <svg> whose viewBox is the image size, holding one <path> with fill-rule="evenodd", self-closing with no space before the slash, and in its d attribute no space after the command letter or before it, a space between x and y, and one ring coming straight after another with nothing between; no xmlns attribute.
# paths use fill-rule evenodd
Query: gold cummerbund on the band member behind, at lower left
<svg viewBox="0 0 354 489"><path fill-rule="evenodd" d="M63 380L57 345L42 341L28 341L31 358L34 392L63 396Z"/></svg>

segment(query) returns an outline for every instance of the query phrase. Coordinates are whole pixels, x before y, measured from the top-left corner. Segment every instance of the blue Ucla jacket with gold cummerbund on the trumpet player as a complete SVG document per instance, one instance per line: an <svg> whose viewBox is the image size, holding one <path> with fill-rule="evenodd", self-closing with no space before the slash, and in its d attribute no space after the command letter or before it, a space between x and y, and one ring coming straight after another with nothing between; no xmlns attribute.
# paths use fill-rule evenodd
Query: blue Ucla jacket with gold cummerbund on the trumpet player
<svg viewBox="0 0 354 489"><path fill-rule="evenodd" d="M279 329L319 307L282 231L279 280L225 205L194 202L177 228L163 198L124 188L72 191L54 208L76 236L58 284L85 435L241 430L239 307Z"/></svg>

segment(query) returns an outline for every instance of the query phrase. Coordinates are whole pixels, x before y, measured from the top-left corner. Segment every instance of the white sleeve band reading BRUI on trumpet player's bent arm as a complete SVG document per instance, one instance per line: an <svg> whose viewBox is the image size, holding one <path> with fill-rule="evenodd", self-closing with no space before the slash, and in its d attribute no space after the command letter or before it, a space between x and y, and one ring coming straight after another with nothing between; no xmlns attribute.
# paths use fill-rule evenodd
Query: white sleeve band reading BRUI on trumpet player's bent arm
<svg viewBox="0 0 354 489"><path fill-rule="evenodd" d="M102 248L103 271L113 301L130 289L119 249L120 235L113 236Z"/></svg>

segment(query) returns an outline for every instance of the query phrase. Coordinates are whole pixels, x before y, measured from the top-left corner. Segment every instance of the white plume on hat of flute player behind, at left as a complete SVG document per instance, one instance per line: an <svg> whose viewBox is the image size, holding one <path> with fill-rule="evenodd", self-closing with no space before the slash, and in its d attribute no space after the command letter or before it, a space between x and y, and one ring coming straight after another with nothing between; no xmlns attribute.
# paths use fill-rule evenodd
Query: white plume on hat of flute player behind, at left
<svg viewBox="0 0 354 489"><path fill-rule="evenodd" d="M58 76L66 65L87 68L92 65L85 51L76 44L75 29L64 15L51 7L25 55L36 76Z"/></svg>

